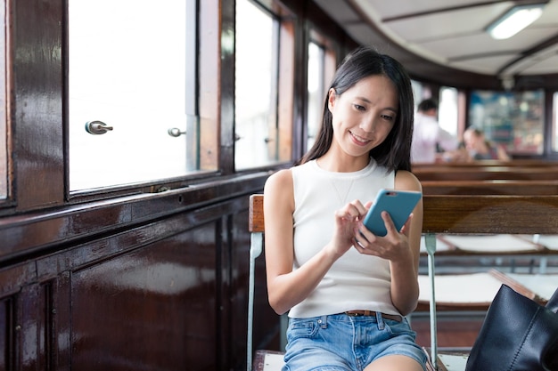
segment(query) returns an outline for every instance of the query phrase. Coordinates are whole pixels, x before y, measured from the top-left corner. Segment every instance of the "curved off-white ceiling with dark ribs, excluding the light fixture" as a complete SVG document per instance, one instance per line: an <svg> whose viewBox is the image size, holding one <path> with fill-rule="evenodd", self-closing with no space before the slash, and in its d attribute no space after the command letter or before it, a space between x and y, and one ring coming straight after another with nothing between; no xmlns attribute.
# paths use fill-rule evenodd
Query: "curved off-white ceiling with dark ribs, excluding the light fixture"
<svg viewBox="0 0 558 371"><path fill-rule="evenodd" d="M558 0L547 1L538 20L506 40L489 36L488 24L514 4L541 1L315 2L357 43L376 45L382 52L402 58L404 64L405 60L411 62L408 55L412 54L414 59L433 61L443 68L500 80L558 73Z"/></svg>

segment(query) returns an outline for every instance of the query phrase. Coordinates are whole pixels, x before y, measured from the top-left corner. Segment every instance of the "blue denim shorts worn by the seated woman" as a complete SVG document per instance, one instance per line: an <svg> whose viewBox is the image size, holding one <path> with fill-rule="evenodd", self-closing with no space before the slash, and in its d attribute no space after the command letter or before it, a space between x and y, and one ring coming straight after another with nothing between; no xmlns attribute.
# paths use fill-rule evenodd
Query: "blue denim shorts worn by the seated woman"
<svg viewBox="0 0 558 371"><path fill-rule="evenodd" d="M426 371L426 354L416 334L402 322L377 316L333 314L289 319L283 371L362 371L389 355L404 355Z"/></svg>

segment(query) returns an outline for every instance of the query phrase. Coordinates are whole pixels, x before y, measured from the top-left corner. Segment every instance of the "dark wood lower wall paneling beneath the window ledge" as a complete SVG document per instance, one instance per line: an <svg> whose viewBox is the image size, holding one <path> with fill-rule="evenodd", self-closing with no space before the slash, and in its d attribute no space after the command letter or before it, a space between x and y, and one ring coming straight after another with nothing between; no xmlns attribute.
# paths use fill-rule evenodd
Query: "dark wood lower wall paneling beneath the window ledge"
<svg viewBox="0 0 558 371"><path fill-rule="evenodd" d="M244 369L248 197L123 224L0 270L0 369ZM94 209L86 219L103 215ZM255 347L277 348L263 257L256 298Z"/></svg>

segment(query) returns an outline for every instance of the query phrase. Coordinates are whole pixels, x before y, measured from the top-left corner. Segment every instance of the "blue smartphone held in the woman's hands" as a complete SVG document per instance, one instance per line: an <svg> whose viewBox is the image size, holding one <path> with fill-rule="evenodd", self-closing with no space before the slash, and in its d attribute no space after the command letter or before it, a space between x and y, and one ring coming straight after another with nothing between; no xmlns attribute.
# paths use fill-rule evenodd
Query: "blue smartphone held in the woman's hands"
<svg viewBox="0 0 558 371"><path fill-rule="evenodd" d="M388 234L382 219L382 211L387 211L395 228L401 230L406 220L413 212L414 206L423 194L413 190L379 190L378 195L365 216L365 227L376 236Z"/></svg>

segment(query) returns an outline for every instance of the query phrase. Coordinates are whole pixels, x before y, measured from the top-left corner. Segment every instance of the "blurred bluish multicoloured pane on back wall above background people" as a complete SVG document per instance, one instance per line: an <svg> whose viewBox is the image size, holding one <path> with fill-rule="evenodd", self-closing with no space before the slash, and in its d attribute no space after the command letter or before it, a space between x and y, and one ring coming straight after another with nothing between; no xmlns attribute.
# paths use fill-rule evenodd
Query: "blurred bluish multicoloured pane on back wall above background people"
<svg viewBox="0 0 558 371"><path fill-rule="evenodd" d="M544 93L473 91L469 122L509 154L541 155L544 149Z"/></svg>

